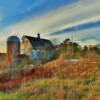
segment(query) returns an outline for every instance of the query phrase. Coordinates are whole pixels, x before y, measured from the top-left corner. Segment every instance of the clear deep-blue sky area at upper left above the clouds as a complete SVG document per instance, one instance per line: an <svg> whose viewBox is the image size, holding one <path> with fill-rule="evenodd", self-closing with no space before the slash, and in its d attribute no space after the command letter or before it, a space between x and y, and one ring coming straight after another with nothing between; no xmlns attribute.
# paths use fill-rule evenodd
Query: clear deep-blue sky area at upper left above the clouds
<svg viewBox="0 0 100 100"><path fill-rule="evenodd" d="M0 28L5 28L25 18L27 20L28 17L41 16L72 2L75 0L0 0L2 17Z"/></svg>

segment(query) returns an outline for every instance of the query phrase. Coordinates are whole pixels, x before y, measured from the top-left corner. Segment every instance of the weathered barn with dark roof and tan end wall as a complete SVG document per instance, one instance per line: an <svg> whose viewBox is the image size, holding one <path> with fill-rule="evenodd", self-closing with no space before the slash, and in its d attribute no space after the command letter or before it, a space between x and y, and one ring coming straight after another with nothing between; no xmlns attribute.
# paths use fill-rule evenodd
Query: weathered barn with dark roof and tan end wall
<svg viewBox="0 0 100 100"><path fill-rule="evenodd" d="M53 44L50 40L42 39L40 34L37 37L23 36L22 51L32 60L34 59L51 59L53 56Z"/></svg>

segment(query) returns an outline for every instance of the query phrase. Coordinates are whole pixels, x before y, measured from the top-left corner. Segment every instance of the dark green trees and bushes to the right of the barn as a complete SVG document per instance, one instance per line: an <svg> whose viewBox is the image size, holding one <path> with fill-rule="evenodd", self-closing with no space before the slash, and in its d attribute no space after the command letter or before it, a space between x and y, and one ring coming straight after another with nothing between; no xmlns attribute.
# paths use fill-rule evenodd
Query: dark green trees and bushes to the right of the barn
<svg viewBox="0 0 100 100"><path fill-rule="evenodd" d="M100 45L81 47L78 43L65 39L61 44L55 46L56 58L61 55L66 59L79 59L88 53L100 56Z"/></svg>

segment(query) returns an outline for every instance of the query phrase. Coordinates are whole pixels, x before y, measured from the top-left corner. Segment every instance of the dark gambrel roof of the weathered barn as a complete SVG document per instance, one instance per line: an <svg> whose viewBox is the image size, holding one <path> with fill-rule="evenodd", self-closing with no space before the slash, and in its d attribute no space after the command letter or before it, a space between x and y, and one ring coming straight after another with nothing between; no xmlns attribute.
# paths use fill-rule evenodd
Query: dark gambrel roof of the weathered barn
<svg viewBox="0 0 100 100"><path fill-rule="evenodd" d="M34 49L46 49L53 46L50 40L42 39L40 37L23 36L22 39L23 38L27 38Z"/></svg>

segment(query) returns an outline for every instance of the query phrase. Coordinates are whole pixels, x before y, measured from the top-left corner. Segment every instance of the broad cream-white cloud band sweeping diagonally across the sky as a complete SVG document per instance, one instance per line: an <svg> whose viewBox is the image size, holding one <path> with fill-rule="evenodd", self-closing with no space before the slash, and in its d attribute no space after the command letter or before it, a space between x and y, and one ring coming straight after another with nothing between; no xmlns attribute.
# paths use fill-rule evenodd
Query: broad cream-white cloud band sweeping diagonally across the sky
<svg viewBox="0 0 100 100"><path fill-rule="evenodd" d="M51 37L47 33L97 20L100 20L100 0L80 0L78 3L55 9L42 16L30 18L27 21L25 19L15 25L9 26L4 32L9 33L8 35L18 35L19 37L24 34L35 36L37 32L40 32L46 38L62 39L64 36L69 37L70 33L68 35ZM75 36L75 38L79 39L83 34L85 36L90 35L91 32L93 33L94 31L96 33L98 30L98 28L95 28L92 31L91 29L80 31L80 35Z"/></svg>

